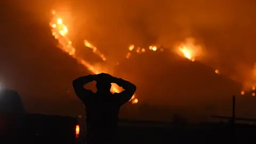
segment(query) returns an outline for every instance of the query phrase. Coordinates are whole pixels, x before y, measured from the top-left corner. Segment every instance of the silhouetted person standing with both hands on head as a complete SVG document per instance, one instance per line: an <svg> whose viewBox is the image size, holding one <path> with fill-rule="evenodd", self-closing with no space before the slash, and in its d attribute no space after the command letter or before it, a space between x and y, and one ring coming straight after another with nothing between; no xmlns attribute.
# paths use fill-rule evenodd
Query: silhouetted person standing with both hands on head
<svg viewBox="0 0 256 144"><path fill-rule="evenodd" d="M84 88L84 85L96 81L97 92ZM120 93L111 93L111 83L123 87ZM88 75L78 77L73 81L74 91L81 99L86 111L86 142L111 143L114 140L118 113L121 106L132 98L136 86L122 78L109 74Z"/></svg>

